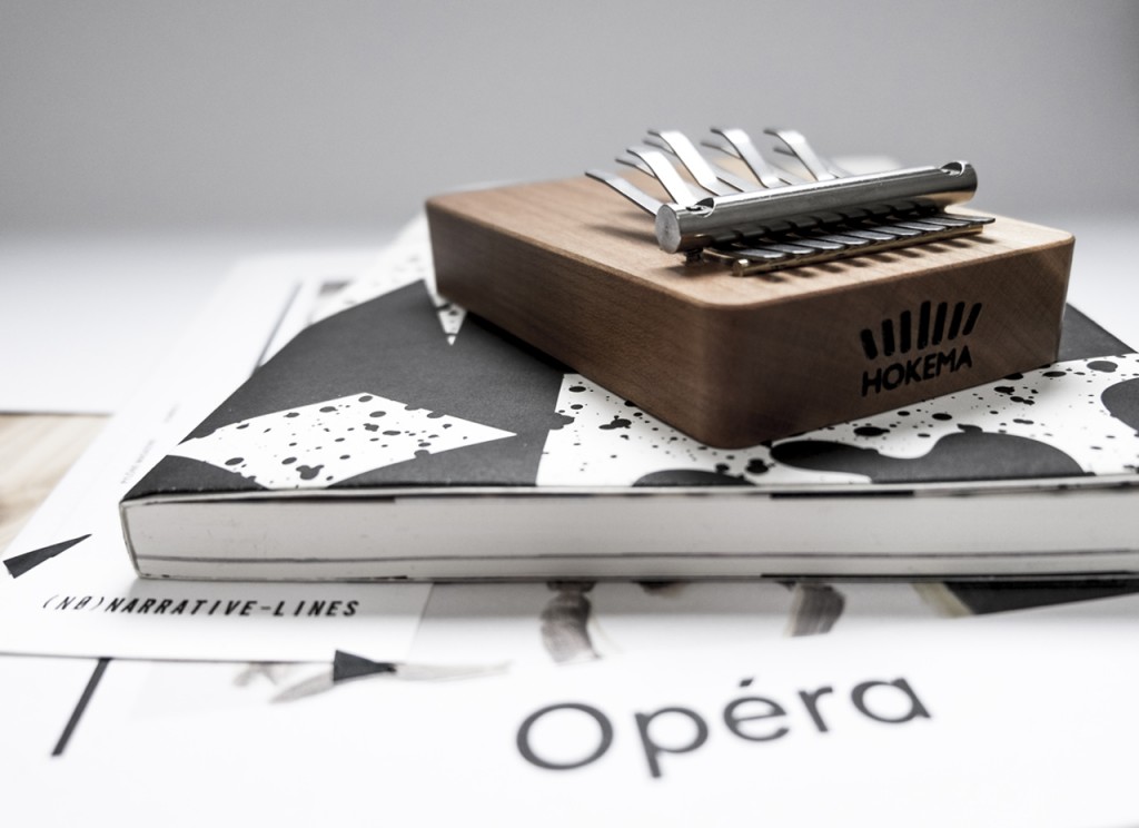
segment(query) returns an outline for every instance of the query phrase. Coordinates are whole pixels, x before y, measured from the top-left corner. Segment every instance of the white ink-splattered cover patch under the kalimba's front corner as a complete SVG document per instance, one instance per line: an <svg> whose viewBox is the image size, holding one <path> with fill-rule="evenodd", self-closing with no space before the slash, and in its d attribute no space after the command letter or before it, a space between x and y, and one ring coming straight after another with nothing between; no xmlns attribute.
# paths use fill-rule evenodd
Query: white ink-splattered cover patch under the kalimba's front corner
<svg viewBox="0 0 1139 828"><path fill-rule="evenodd" d="M976 473L977 452L1005 477L1139 468L1139 354L1059 362L771 446L702 445L576 374L557 410L574 421L550 432L539 485L954 479Z"/></svg>

